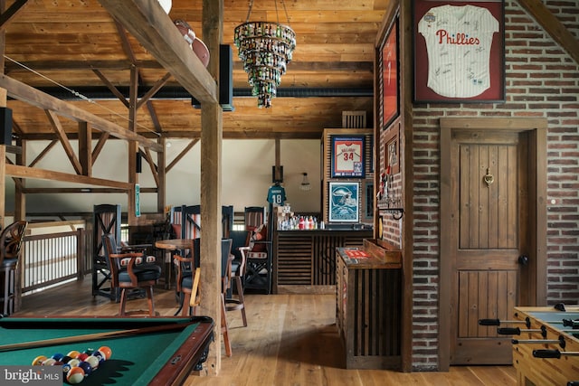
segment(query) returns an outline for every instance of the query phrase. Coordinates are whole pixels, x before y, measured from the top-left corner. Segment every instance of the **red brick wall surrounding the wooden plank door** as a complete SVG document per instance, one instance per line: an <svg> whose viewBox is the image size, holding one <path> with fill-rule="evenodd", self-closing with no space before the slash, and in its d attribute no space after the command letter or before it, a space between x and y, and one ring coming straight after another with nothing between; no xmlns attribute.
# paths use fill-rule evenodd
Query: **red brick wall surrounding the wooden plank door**
<svg viewBox="0 0 579 386"><path fill-rule="evenodd" d="M545 1L579 39L579 0ZM413 368L438 366L439 118L548 119L547 303L579 303L579 65L518 5L505 7L507 101L414 105Z"/></svg>

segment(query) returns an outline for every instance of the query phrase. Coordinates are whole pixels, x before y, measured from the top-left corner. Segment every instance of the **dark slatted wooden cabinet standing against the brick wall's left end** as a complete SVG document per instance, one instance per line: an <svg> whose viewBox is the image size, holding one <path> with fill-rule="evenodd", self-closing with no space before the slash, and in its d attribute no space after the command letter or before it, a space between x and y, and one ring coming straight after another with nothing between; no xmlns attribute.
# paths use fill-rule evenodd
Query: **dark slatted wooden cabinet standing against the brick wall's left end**
<svg viewBox="0 0 579 386"><path fill-rule="evenodd" d="M398 370L401 257L390 261L372 256L354 259L347 252L338 248L336 263L336 325L346 351L346 369Z"/></svg>

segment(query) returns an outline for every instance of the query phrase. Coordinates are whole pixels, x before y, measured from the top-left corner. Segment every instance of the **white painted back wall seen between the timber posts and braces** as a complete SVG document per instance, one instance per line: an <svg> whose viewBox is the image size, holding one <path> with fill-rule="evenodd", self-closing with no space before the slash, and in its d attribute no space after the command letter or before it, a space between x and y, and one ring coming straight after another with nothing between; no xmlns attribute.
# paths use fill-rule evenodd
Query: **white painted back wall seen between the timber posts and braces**
<svg viewBox="0 0 579 386"><path fill-rule="evenodd" d="M172 139L166 149L169 165L187 146L188 140ZM39 155L46 141L27 144L28 163ZM76 142L72 141L76 148ZM197 143L166 176L167 205L193 205L200 202L200 148ZM320 140L281 140L280 162L288 202L295 212L320 212ZM109 140L93 166L93 177L118 181L128 180L128 146L124 141ZM11 155L12 156L12 155ZM14 160L14 157L13 157ZM223 140L222 202L233 205L236 212L245 206L266 206L271 185L271 166L275 165L275 141L262 139ZM54 146L35 167L73 173L71 164L62 150ZM299 190L303 173L308 173L312 189ZM139 174L141 188L155 186L148 164L143 160ZM28 187L79 187L52 181L26 180ZM84 186L81 186L84 187ZM14 182L6 179L6 211L14 211ZM156 212L157 194L141 194L141 212ZM91 212L95 204L120 203L127 210L127 195L117 193L28 194L27 212Z"/></svg>

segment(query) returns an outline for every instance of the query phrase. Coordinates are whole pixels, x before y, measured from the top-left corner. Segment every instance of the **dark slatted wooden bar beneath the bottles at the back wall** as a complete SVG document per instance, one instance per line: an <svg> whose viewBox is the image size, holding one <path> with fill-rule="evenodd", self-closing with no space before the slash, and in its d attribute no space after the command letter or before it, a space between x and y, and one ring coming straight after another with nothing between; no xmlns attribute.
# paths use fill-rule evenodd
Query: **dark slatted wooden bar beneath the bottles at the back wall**
<svg viewBox="0 0 579 386"><path fill-rule="evenodd" d="M371 230L276 231L273 293L334 293L336 249L362 247Z"/></svg>

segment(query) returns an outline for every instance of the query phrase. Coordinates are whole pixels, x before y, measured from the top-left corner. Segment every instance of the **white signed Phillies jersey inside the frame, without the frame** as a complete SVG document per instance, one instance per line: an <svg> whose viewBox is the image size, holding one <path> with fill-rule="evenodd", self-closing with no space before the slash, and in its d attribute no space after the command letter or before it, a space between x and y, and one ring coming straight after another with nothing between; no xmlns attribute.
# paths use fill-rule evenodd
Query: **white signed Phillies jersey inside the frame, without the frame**
<svg viewBox="0 0 579 386"><path fill-rule="evenodd" d="M449 98L470 98L490 87L489 60L498 21L475 5L432 7L418 23L426 40L428 87Z"/></svg>

